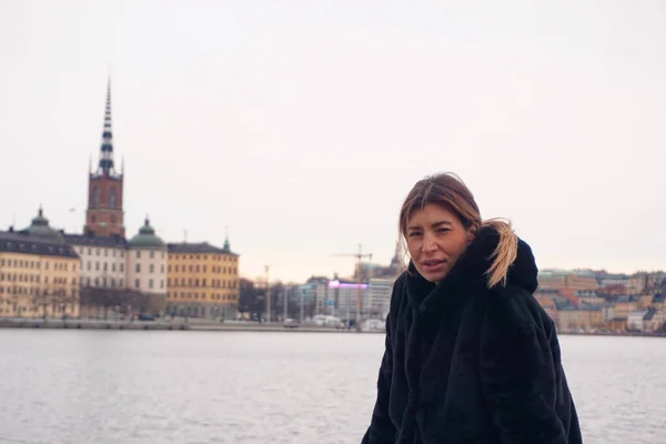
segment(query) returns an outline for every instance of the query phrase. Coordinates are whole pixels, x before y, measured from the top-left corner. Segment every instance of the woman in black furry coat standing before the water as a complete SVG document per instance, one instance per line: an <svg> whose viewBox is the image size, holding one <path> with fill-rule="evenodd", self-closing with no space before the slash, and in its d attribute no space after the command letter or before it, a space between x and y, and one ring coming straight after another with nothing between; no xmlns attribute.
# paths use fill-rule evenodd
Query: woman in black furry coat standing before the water
<svg viewBox="0 0 666 444"><path fill-rule="evenodd" d="M411 261L363 443L582 443L529 246L453 174L414 185L400 231Z"/></svg>

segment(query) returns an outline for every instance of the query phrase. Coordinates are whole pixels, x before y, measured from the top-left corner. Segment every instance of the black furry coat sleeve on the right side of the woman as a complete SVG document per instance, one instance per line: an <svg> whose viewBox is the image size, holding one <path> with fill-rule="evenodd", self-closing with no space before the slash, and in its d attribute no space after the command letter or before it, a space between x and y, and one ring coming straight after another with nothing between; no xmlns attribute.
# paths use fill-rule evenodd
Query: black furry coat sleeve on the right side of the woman
<svg viewBox="0 0 666 444"><path fill-rule="evenodd" d="M504 444L567 444L564 424L542 393L554 377L547 340L521 317L504 306L484 320L480 374L486 404Z"/></svg>

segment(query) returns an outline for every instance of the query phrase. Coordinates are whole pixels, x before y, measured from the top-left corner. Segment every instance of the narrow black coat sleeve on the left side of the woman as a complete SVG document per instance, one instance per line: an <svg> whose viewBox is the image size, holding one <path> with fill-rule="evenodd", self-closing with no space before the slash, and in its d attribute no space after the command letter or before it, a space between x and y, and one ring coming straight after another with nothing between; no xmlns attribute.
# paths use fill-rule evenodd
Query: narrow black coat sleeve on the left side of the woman
<svg viewBox="0 0 666 444"><path fill-rule="evenodd" d="M389 398L393 372L393 347L391 343L391 315L386 316L386 339L384 356L377 379L377 398L372 412L370 427L361 444L394 444L396 430L389 417Z"/></svg>

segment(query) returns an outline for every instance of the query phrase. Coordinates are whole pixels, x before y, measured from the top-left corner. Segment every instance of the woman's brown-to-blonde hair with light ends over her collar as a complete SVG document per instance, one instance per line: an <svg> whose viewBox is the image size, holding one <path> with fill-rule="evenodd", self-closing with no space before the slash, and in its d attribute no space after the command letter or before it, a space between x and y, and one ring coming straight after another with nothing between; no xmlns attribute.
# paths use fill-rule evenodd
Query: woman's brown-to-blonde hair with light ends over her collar
<svg viewBox="0 0 666 444"><path fill-rule="evenodd" d="M491 226L500 235L497 246L488 258L491 266L485 271L487 286L506 285L508 269L518 253L518 238L511 222L501 219L483 221L474 195L465 183L454 173L442 173L427 176L412 188L400 211L398 229L403 258L406 253L405 235L407 222L415 211L427 204L438 204L452 209L461 219L466 230L478 231Z"/></svg>

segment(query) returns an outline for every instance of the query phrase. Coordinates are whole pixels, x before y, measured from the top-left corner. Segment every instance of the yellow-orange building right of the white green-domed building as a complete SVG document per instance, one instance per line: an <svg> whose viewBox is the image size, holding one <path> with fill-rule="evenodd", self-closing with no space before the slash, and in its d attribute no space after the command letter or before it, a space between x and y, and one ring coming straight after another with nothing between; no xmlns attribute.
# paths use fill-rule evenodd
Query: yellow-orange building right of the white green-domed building
<svg viewBox="0 0 666 444"><path fill-rule="evenodd" d="M239 255L229 246L168 245L167 315L234 319L239 305Z"/></svg>

